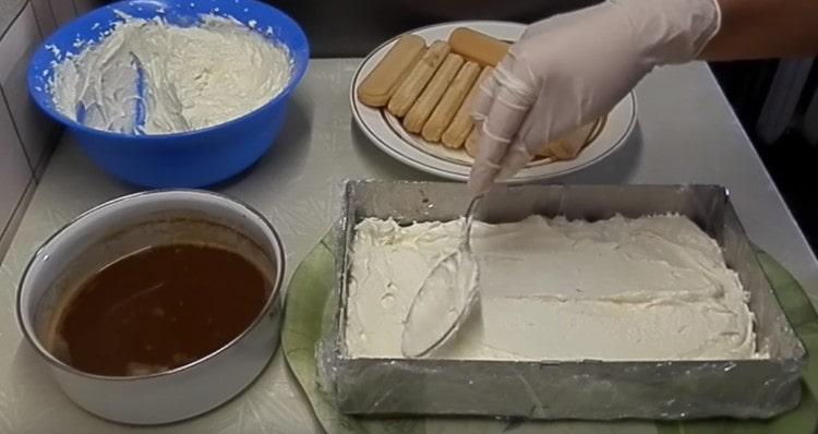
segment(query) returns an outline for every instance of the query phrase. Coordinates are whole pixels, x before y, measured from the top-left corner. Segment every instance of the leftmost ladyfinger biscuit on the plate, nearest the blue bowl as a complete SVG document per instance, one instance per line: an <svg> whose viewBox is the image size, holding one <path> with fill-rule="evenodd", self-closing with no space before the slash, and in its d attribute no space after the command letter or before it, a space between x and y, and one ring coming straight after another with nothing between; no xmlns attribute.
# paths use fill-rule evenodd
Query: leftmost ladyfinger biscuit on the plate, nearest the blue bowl
<svg viewBox="0 0 818 434"><path fill-rule="evenodd" d="M358 99L371 107L383 107L426 50L418 35L402 36L358 86Z"/></svg>

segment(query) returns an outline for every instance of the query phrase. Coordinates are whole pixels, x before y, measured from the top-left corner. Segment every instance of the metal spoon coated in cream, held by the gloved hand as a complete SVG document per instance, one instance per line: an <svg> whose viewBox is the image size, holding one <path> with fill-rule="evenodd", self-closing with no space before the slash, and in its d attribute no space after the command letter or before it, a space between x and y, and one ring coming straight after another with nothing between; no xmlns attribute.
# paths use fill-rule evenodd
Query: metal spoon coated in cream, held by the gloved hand
<svg viewBox="0 0 818 434"><path fill-rule="evenodd" d="M443 257L423 280L404 323L400 351L409 358L428 355L460 328L478 296L478 265L471 253L471 225L482 195L466 209L460 244Z"/></svg>

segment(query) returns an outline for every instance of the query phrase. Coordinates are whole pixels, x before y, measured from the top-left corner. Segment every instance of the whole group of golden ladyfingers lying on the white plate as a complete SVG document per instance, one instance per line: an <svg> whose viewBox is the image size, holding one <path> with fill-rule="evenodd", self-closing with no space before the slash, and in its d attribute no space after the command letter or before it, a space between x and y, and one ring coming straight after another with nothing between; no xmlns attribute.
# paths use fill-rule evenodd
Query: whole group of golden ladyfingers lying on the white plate
<svg viewBox="0 0 818 434"><path fill-rule="evenodd" d="M452 32L448 41L430 46L418 35L402 36L358 86L358 99L388 110L408 132L428 142L465 147L474 157L479 131L471 120L472 100L508 48L504 41L465 27ZM554 141L539 156L574 158L588 143L585 138Z"/></svg>

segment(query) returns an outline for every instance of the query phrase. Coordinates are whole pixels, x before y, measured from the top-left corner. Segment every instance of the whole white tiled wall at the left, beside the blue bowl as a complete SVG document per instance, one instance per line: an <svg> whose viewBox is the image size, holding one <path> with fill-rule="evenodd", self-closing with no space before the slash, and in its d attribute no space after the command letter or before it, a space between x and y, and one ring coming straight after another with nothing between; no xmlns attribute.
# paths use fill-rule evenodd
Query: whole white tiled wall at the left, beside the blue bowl
<svg viewBox="0 0 818 434"><path fill-rule="evenodd" d="M101 0L0 0L0 258L60 131L28 98L28 57L55 28Z"/></svg>

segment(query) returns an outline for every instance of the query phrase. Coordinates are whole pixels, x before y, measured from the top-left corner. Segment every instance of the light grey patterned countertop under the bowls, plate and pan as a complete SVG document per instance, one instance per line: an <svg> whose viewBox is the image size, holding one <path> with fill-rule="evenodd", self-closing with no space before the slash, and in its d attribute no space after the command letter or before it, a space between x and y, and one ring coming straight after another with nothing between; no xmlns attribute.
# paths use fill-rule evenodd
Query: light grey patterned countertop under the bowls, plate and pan
<svg viewBox="0 0 818 434"><path fill-rule="evenodd" d="M275 225L287 251L287 278L333 224L345 179L434 179L387 157L354 126L348 95L358 63L313 60L270 152L248 173L214 188L251 204ZM636 95L639 125L634 140L599 165L557 182L726 185L750 239L787 267L818 305L818 263L707 65L659 69L639 84ZM140 430L111 424L72 405L22 340L14 320L16 284L37 246L80 213L133 191L93 166L70 137L51 158L0 268L0 432ZM591 430L584 423L552 426L566 433ZM456 432L456 425L444 422L431 422L428 429ZM279 351L237 399L152 432L320 430ZM654 429L624 422L613 424L614 431ZM528 430L522 425L515 432Z"/></svg>

